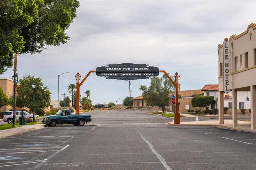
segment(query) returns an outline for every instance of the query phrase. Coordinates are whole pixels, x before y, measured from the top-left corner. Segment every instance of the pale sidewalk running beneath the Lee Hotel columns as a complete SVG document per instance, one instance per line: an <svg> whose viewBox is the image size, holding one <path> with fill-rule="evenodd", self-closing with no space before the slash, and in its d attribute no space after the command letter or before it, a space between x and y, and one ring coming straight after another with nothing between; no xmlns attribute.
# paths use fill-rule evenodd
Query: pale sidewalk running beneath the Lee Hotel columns
<svg viewBox="0 0 256 170"><path fill-rule="evenodd" d="M225 120L224 124L218 124L218 120L207 120L207 121L194 121L194 122L180 122L180 124L174 124L174 122L166 123L166 125L174 126L214 126L224 129L239 130L244 132L256 133L256 129L251 129L250 122L238 121L238 126L233 127L232 120Z"/></svg>

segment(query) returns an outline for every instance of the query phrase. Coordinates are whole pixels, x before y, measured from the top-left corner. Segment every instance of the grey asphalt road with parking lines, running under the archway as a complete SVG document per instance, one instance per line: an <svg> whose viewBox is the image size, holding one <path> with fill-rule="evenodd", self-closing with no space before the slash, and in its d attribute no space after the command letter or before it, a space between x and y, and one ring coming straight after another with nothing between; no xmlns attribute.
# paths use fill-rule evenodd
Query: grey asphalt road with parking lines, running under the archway
<svg viewBox="0 0 256 170"><path fill-rule="evenodd" d="M91 124L0 139L0 170L255 170L256 134L170 126L145 111L97 111Z"/></svg>

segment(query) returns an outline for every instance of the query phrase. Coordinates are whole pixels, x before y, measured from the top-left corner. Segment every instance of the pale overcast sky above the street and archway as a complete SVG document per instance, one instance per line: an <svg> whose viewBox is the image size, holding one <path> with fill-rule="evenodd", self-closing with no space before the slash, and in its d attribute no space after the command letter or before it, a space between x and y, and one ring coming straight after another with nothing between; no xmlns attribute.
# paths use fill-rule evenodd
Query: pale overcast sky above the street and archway
<svg viewBox="0 0 256 170"><path fill-rule="evenodd" d="M245 3L246 2L246 3ZM218 44L225 37L241 34L256 22L255 0L80 0L77 17L67 30L71 39L41 54L18 57L17 73L41 77L58 100L67 86L76 84L90 70L106 64L149 64L180 74L180 90L218 84ZM12 77L9 68L1 77ZM162 74L160 74L162 76ZM140 85L131 81L131 96L140 96ZM91 74L80 94L91 90L93 104L129 96L129 84ZM69 95L71 97L71 95Z"/></svg>

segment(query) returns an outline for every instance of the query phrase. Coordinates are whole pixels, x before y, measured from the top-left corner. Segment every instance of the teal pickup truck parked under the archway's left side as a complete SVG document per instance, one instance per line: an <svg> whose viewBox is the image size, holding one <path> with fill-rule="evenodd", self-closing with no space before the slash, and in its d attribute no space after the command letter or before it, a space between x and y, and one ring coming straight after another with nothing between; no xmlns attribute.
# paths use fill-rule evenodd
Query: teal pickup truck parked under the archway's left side
<svg viewBox="0 0 256 170"><path fill-rule="evenodd" d="M70 110L60 110L55 115L44 116L42 123L48 127L57 124L74 124L75 126L83 126L84 122L92 121L90 114L72 115Z"/></svg>

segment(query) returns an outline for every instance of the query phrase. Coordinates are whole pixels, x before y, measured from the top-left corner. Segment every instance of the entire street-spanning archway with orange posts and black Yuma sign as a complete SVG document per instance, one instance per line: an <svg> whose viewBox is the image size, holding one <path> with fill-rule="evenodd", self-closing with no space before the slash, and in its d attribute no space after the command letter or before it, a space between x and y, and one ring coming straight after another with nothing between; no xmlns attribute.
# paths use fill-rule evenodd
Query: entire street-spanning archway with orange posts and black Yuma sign
<svg viewBox="0 0 256 170"><path fill-rule="evenodd" d="M76 94L80 94L80 86L84 83L87 77L91 73L96 73L97 76L105 77L106 79L120 79L120 80L135 80L135 79L149 79L150 77L158 76L159 73L164 73L166 77L172 82L175 87L175 114L174 114L174 123L180 124L180 113L179 113L179 75L175 73L175 82L169 77L166 71L159 71L157 67L153 67L147 64L133 64L133 63L123 63L123 64L109 64L102 67L96 68L96 71L89 71L89 73L84 77L80 82L80 74L76 74ZM79 113L79 96L76 95L76 114Z"/></svg>

